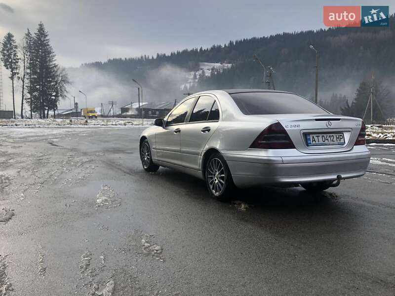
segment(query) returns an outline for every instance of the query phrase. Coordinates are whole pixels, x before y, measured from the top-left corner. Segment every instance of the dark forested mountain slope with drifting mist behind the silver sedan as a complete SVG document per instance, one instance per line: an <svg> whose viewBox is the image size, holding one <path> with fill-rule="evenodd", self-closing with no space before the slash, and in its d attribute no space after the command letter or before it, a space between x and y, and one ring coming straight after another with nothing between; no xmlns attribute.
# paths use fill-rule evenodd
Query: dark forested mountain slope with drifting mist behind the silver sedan
<svg viewBox="0 0 395 296"><path fill-rule="evenodd" d="M81 69L98 70L113 75L127 87L137 79L147 89L147 100L158 97L181 99L180 89L190 72L199 71L199 63L226 63L233 66L211 71L210 76L188 83L190 92L203 89L264 87L262 68L252 59L256 54L266 66L275 69L276 89L294 91L309 98L314 96L315 52L320 51L320 99L333 93L354 96L359 82L374 74L390 90L395 69L395 17L390 27L330 28L318 31L282 33L269 37L254 37L230 41L210 48L194 48L156 57L111 59L84 64ZM166 68L165 71L163 68ZM185 74L183 74L185 73ZM158 74L158 75L157 75ZM185 77L184 77L185 76ZM184 89L186 91L187 89ZM134 92L134 91L133 91ZM159 101L163 101L163 98Z"/></svg>

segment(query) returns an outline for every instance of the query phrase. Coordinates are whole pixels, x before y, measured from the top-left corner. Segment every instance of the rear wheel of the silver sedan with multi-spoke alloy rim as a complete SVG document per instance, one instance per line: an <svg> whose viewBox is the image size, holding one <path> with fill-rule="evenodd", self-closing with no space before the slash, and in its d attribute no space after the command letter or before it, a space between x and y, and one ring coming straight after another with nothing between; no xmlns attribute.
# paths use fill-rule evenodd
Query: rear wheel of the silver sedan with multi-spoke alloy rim
<svg viewBox="0 0 395 296"><path fill-rule="evenodd" d="M205 167L205 179L210 195L220 201L228 201L235 188L228 164L221 153L214 153Z"/></svg>

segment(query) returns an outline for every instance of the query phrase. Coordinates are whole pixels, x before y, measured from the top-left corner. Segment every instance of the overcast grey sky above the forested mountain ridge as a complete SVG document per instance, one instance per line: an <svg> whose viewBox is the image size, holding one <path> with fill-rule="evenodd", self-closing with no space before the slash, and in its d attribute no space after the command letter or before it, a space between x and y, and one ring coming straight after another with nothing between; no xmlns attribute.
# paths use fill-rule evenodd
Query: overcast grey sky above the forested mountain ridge
<svg viewBox="0 0 395 296"><path fill-rule="evenodd" d="M343 2L343 3L342 3ZM391 1L375 0L389 5ZM42 21L63 66L323 28L323 5L372 1L0 0L0 36ZM391 10L392 7L390 7Z"/></svg>

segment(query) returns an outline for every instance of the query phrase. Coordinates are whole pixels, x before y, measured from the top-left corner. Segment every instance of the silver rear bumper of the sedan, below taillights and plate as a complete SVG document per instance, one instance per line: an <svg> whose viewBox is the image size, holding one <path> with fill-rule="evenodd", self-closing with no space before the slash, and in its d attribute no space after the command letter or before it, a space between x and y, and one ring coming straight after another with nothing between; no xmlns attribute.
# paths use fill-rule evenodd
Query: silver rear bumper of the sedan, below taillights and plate
<svg viewBox="0 0 395 296"><path fill-rule="evenodd" d="M223 155L238 187L334 181L338 175L356 178L365 174L370 160L369 151L292 157Z"/></svg>

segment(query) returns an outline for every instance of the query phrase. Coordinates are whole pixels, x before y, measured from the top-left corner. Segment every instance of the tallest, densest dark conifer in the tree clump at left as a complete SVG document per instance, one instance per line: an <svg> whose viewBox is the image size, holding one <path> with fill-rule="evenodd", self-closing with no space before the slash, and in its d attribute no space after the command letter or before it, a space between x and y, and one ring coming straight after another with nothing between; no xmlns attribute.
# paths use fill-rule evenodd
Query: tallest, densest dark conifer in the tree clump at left
<svg viewBox="0 0 395 296"><path fill-rule="evenodd" d="M32 81L34 86L33 105L40 118L46 118L53 109L51 102L53 83L56 80L55 53L49 43L48 32L40 22L33 38L32 46Z"/></svg>

